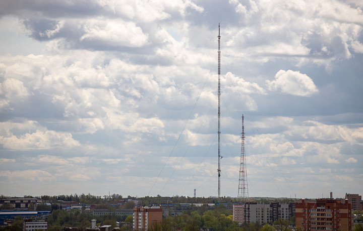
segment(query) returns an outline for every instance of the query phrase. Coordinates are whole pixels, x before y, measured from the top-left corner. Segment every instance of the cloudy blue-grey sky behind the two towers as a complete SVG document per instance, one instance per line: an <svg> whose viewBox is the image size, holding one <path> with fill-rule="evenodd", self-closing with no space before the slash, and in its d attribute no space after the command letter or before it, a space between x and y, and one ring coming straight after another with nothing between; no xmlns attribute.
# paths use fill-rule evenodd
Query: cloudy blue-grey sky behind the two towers
<svg viewBox="0 0 363 231"><path fill-rule="evenodd" d="M363 194L363 2L0 2L0 194Z"/></svg>

